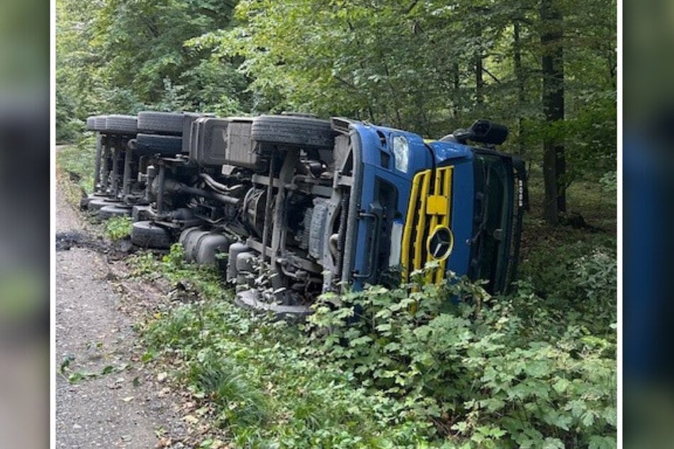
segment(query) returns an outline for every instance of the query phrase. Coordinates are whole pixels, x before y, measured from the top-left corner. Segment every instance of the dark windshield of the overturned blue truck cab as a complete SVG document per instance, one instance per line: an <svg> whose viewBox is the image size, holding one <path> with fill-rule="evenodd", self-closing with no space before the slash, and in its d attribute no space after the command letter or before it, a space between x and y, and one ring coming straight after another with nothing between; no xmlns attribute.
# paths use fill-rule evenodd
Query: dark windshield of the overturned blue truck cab
<svg viewBox="0 0 674 449"><path fill-rule="evenodd" d="M474 167L475 215L469 275L488 280L488 292L502 292L507 288L512 234L512 159L476 150Z"/></svg>

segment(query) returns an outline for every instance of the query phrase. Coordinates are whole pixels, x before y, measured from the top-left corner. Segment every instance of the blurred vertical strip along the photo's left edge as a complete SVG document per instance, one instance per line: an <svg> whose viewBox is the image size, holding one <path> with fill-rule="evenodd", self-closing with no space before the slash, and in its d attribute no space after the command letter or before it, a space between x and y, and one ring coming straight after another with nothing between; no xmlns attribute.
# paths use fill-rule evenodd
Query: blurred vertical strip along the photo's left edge
<svg viewBox="0 0 674 449"><path fill-rule="evenodd" d="M0 2L0 447L50 429L50 4Z"/></svg>

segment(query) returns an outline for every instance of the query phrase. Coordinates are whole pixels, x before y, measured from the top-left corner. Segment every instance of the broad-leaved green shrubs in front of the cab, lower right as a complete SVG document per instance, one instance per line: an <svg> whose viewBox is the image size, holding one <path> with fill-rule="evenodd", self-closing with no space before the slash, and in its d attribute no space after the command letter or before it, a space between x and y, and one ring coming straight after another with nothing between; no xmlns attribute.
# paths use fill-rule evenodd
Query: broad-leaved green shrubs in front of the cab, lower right
<svg viewBox="0 0 674 449"><path fill-rule="evenodd" d="M371 287L339 300L322 297L310 317L315 346L305 351L431 419L450 440L481 448L597 438L615 445L615 343L575 325L532 335L521 301L490 304L460 279Z"/></svg>

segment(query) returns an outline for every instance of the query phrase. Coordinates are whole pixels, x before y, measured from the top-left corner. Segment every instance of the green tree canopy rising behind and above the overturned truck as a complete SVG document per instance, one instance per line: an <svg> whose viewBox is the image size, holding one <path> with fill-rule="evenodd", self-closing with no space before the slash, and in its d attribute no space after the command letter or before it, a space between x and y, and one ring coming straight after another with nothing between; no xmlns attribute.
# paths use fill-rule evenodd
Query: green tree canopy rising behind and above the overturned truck
<svg viewBox="0 0 674 449"><path fill-rule="evenodd" d="M544 139L563 142L563 183L599 178L616 162L616 2L554 3L558 123L541 106L540 0L57 0L57 137L74 140L87 115L142 109L296 110L425 137L490 118L510 127L505 151L534 164Z"/></svg>

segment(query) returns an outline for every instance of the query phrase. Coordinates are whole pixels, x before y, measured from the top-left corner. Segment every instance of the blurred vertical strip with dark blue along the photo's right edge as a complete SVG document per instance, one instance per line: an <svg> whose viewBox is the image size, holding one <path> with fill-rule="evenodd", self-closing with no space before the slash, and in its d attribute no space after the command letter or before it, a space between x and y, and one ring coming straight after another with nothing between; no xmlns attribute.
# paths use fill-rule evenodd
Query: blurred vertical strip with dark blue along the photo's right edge
<svg viewBox="0 0 674 449"><path fill-rule="evenodd" d="M674 1L623 11L623 443L674 443Z"/></svg>

